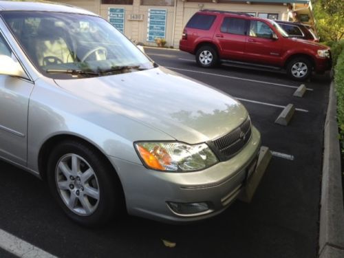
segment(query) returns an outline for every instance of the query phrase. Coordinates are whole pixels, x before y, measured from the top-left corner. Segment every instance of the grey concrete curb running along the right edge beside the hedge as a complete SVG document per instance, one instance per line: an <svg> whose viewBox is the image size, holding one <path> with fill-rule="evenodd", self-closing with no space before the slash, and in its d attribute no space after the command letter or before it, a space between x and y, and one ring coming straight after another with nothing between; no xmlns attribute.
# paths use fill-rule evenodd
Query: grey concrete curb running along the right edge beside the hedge
<svg viewBox="0 0 344 258"><path fill-rule="evenodd" d="M319 228L319 257L344 257L344 208L341 182L341 153L338 144L334 82L324 129L323 178Z"/></svg>

